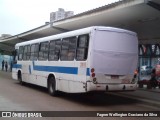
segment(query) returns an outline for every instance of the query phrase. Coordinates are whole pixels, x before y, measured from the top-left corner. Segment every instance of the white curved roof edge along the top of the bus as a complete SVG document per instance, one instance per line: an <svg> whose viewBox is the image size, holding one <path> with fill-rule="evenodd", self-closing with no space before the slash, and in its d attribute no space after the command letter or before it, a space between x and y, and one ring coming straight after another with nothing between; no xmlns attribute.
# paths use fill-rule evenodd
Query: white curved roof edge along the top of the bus
<svg viewBox="0 0 160 120"><path fill-rule="evenodd" d="M125 30L125 29L120 29L120 28L115 28L115 27L105 27L105 26L92 26L92 27L87 27L83 29L78 29L78 30L73 30L65 33L60 33L57 35L51 35L43 38L38 38L34 40L29 40L26 42L21 42L17 43L15 46L23 46L23 45L29 45L29 44L34 44L34 43L40 43L40 42L45 42L45 41L50 41L50 40L57 40L57 39L62 39L62 38L67 38L67 37L72 37L72 36L78 36L78 35L83 35L83 34L89 34L93 30L102 30L102 31L113 31L113 32L125 32L131 35L136 36L137 34L135 32Z"/></svg>

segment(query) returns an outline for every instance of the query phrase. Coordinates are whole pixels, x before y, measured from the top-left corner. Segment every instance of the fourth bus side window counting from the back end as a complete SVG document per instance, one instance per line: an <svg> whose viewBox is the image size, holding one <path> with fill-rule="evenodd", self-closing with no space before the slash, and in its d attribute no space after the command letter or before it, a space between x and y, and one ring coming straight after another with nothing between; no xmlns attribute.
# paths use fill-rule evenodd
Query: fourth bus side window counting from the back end
<svg viewBox="0 0 160 120"><path fill-rule="evenodd" d="M48 59L49 42L40 43L38 60Z"/></svg>

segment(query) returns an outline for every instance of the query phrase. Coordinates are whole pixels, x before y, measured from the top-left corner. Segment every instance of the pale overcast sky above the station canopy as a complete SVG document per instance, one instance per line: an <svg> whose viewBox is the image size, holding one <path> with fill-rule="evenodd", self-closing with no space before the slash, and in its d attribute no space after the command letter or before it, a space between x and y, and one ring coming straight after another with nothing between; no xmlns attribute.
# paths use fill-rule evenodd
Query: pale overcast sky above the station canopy
<svg viewBox="0 0 160 120"><path fill-rule="evenodd" d="M79 14L116 1L119 0L0 0L0 36L42 26L58 8Z"/></svg>

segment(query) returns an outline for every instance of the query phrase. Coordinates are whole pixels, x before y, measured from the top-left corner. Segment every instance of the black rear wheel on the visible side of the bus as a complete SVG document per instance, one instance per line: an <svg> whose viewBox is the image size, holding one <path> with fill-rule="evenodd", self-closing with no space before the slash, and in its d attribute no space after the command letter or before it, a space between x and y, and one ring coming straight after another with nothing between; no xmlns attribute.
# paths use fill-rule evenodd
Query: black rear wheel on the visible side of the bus
<svg viewBox="0 0 160 120"><path fill-rule="evenodd" d="M48 92L51 96L57 96L56 81L53 76L48 80Z"/></svg>

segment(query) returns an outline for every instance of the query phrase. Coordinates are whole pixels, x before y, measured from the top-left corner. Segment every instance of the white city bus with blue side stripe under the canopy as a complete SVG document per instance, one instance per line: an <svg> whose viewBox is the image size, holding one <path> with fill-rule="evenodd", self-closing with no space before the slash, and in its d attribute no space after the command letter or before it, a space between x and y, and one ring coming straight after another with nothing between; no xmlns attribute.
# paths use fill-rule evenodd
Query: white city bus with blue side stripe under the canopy
<svg viewBox="0 0 160 120"><path fill-rule="evenodd" d="M136 90L138 39L134 32L93 26L15 45L12 77L58 91Z"/></svg>

